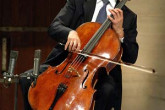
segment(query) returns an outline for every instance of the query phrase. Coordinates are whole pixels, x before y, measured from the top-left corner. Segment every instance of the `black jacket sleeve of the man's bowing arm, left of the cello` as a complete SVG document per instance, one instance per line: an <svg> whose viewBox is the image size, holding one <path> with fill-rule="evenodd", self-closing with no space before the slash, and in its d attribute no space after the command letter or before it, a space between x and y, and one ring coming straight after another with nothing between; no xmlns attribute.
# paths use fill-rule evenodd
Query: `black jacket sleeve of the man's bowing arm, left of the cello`
<svg viewBox="0 0 165 110"><path fill-rule="evenodd" d="M72 16L75 11L74 0L68 0L48 28L48 34L57 42L66 43Z"/></svg>

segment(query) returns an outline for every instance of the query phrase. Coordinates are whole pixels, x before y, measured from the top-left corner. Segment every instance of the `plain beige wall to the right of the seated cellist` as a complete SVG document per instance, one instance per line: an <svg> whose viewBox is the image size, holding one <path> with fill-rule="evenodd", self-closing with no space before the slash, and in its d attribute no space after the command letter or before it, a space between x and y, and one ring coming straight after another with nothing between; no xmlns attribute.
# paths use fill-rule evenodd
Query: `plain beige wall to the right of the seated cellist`
<svg viewBox="0 0 165 110"><path fill-rule="evenodd" d="M131 0L138 18L136 64L153 67L157 75L123 67L123 110L165 110L165 0Z"/></svg>

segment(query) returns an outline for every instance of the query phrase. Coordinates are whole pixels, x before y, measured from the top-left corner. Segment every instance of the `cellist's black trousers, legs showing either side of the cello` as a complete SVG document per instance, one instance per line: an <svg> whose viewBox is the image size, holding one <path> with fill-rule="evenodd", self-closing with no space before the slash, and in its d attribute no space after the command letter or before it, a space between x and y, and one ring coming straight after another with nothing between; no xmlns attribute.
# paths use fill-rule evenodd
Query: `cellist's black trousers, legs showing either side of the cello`
<svg viewBox="0 0 165 110"><path fill-rule="evenodd" d="M48 65L40 66L40 73L47 69ZM23 74L32 72L28 70ZM31 80L27 78L20 79L20 85L24 98L25 110L32 110L28 102L28 90L31 85ZM97 89L95 94L95 107L94 110L111 110L114 105L115 98L115 83L110 75L106 74L105 69L101 69L98 75L98 82L95 86Z"/></svg>

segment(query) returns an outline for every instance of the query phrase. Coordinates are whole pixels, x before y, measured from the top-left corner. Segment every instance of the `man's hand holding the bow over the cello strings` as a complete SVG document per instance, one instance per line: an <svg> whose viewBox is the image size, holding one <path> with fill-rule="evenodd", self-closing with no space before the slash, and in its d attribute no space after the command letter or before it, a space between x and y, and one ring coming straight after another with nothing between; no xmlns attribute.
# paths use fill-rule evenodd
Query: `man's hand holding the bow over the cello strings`
<svg viewBox="0 0 165 110"><path fill-rule="evenodd" d="M81 42L76 31L70 31L68 35L68 40L65 44L65 50L78 51L80 50Z"/></svg>

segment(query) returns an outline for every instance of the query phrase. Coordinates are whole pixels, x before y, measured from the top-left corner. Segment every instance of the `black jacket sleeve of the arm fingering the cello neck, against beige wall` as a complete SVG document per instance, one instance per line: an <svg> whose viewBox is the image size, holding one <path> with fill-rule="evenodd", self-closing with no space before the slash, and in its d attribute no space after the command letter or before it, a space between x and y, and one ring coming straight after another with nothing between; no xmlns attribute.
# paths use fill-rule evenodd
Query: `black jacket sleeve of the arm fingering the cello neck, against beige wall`
<svg viewBox="0 0 165 110"><path fill-rule="evenodd" d="M129 29L124 30L124 41L121 44L123 48L122 61L127 63L135 63L138 56L139 46L136 42L137 36L137 15L133 17L131 26Z"/></svg>

